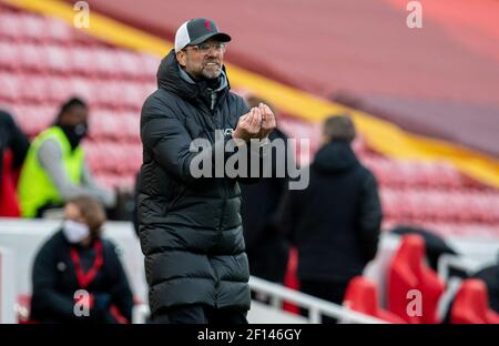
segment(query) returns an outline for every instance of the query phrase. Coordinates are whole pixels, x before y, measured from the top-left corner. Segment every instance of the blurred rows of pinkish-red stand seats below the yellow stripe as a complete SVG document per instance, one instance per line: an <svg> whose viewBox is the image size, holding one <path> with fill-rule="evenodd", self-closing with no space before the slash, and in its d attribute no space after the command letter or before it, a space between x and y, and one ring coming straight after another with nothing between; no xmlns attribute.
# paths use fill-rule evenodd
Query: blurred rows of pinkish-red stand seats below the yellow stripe
<svg viewBox="0 0 499 346"><path fill-rule="evenodd" d="M68 96L86 99L91 133L84 146L92 171L110 187L132 185L141 164L140 109L155 89L160 58L112 47L59 19L0 7L0 105L33 138ZM281 126L292 138L312 139L310 154L317 150L317 124L285 114ZM497 190L447 162L394 160L361 138L354 149L380 183L384 228L405 222L444 235L499 236ZM297 156L307 162L304 153Z"/></svg>

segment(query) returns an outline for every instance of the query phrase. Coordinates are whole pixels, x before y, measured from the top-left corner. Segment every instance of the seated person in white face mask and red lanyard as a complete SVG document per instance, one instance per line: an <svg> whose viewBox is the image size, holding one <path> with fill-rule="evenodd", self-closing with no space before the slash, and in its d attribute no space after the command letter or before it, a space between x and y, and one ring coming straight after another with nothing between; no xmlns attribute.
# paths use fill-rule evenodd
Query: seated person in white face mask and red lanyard
<svg viewBox="0 0 499 346"><path fill-rule="evenodd" d="M67 203L64 217L35 256L30 318L40 323L130 322L133 295L115 246L102 238L105 214L101 204L90 196L75 197Z"/></svg>

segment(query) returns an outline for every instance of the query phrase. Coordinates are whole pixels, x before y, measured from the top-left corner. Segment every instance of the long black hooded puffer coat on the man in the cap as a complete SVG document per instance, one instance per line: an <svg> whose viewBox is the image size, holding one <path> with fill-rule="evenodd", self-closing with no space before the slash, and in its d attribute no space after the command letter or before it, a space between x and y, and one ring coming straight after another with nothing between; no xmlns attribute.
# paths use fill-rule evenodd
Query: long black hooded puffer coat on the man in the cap
<svg viewBox="0 0 499 346"><path fill-rule="evenodd" d="M171 51L157 71L159 89L142 109L138 217L151 312L195 303L247 311L237 181L194 179L190 144L200 138L213 143L214 131L235 129L248 108L230 92L225 74L215 99L206 82L181 73Z"/></svg>

